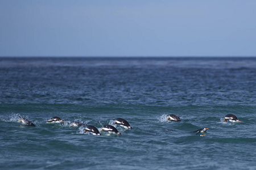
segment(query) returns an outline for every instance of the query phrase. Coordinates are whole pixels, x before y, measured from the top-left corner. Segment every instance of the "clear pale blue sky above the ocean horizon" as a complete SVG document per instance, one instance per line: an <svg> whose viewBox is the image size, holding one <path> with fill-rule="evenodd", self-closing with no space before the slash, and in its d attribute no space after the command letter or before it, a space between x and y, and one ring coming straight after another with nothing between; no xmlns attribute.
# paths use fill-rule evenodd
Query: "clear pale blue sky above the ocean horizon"
<svg viewBox="0 0 256 170"><path fill-rule="evenodd" d="M256 56L256 1L0 0L0 56Z"/></svg>

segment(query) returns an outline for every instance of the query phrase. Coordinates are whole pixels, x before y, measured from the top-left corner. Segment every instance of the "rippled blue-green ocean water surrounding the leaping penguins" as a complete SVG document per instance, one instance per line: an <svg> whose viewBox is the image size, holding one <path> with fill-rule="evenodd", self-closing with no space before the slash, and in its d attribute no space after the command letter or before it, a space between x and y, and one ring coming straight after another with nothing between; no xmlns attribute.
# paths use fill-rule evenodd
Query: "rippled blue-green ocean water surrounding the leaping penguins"
<svg viewBox="0 0 256 170"><path fill-rule="evenodd" d="M0 89L0 169L256 169L254 57L1 57Z"/></svg>

